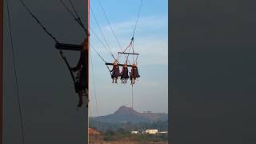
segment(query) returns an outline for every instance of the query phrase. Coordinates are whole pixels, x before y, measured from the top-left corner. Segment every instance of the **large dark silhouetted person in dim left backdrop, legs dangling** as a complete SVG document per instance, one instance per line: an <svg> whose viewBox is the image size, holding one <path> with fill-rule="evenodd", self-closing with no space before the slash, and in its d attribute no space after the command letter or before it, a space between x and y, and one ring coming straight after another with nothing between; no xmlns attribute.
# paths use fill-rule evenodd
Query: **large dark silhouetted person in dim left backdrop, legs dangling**
<svg viewBox="0 0 256 144"><path fill-rule="evenodd" d="M77 81L75 82L75 91L78 93L78 107L81 107L83 102L82 102L82 95L86 94L87 97L87 104L86 107L88 107L88 76L87 71L88 71L88 53L89 53L89 36L90 34L87 33L87 38L82 42L82 47L83 49L80 52L80 58L78 60L77 66L72 68L74 72L78 71L77 75Z"/></svg>

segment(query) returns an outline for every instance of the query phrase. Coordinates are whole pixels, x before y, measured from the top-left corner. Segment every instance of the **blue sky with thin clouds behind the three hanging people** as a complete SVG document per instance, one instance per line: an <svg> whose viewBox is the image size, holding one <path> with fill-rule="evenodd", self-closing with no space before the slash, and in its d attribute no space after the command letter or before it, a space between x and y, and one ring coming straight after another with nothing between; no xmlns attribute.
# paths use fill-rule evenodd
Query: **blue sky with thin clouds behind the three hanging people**
<svg viewBox="0 0 256 144"><path fill-rule="evenodd" d="M117 35L122 49L128 46L134 30L140 0L100 1ZM117 55L120 48L110 26L104 17L98 0L91 0L90 6L98 20L111 51ZM90 14L90 28L102 38L98 26ZM168 111L168 1L144 0L134 35L134 50L139 53L138 70L141 75L134 85L134 110L165 112ZM103 38L102 38L103 41ZM113 62L110 54L91 32L91 44L107 62ZM119 106L131 106L130 81L126 85L112 84L110 74L101 58L90 50L93 67L90 66L90 112L91 116L112 114ZM120 59L121 63L124 59ZM111 68L111 67L110 67ZM94 80L93 73L94 69ZM121 67L120 67L121 69ZM94 83L98 102L95 102Z"/></svg>

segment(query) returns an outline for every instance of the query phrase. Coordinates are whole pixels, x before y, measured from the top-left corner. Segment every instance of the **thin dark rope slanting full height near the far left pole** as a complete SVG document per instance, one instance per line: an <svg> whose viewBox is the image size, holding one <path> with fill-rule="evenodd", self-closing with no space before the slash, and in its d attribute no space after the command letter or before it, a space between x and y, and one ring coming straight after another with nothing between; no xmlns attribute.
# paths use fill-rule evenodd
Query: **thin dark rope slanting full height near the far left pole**
<svg viewBox="0 0 256 144"><path fill-rule="evenodd" d="M22 117L22 108L21 108L21 102L20 102L20 96L19 96L19 90L18 90L18 76L17 76L17 64L14 54L14 42L13 42L13 36L12 36L12 30L10 26L10 10L9 10L9 2L6 0L6 6L7 6L7 13L8 13L8 23L9 23L9 29L10 29L10 44L11 44L11 50L13 55L13 61L14 61L14 72L15 72L15 82L16 82L16 90L17 90L17 99L18 99L18 110L19 110L19 116L20 116L20 123L22 128L22 143L25 144L25 138L24 138L24 126L23 126L23 117Z"/></svg>

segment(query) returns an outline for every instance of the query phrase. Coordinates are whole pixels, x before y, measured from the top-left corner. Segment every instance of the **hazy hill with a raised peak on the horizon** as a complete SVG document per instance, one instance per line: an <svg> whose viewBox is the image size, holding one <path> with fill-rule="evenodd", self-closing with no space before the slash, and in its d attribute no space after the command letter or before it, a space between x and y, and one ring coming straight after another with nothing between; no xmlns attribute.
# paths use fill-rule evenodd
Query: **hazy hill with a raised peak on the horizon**
<svg viewBox="0 0 256 144"><path fill-rule="evenodd" d="M120 106L119 109L114 112L114 114L94 117L90 118L90 120L110 123L165 122L168 120L168 115L163 113L152 112L139 113L131 107Z"/></svg>

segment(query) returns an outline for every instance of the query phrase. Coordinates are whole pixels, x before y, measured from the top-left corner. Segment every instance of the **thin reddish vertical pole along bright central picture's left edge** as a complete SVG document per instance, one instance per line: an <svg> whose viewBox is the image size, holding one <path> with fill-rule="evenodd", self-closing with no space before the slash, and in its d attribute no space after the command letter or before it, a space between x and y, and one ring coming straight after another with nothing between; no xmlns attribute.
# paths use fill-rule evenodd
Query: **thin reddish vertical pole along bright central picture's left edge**
<svg viewBox="0 0 256 144"><path fill-rule="evenodd" d="M90 34L90 0L87 0L87 2L86 2L86 25L87 25L87 27L86 27L86 30L88 30L88 33ZM87 37L89 37L89 35L87 35ZM88 90L88 99L90 98L89 96L90 96L90 93L89 93L89 79L90 79L90 77L89 77L89 71L90 71L90 69L89 69L89 60L90 60L90 38L88 38L88 45L87 45L88 47L87 47L87 55L86 55L86 58L87 58L87 63L86 63L86 66L87 66L87 71L86 71L86 75L87 75L87 84L86 84L86 86L88 86L87 87L87 90ZM89 102L88 102L88 107L86 108L86 144L89 144Z"/></svg>

